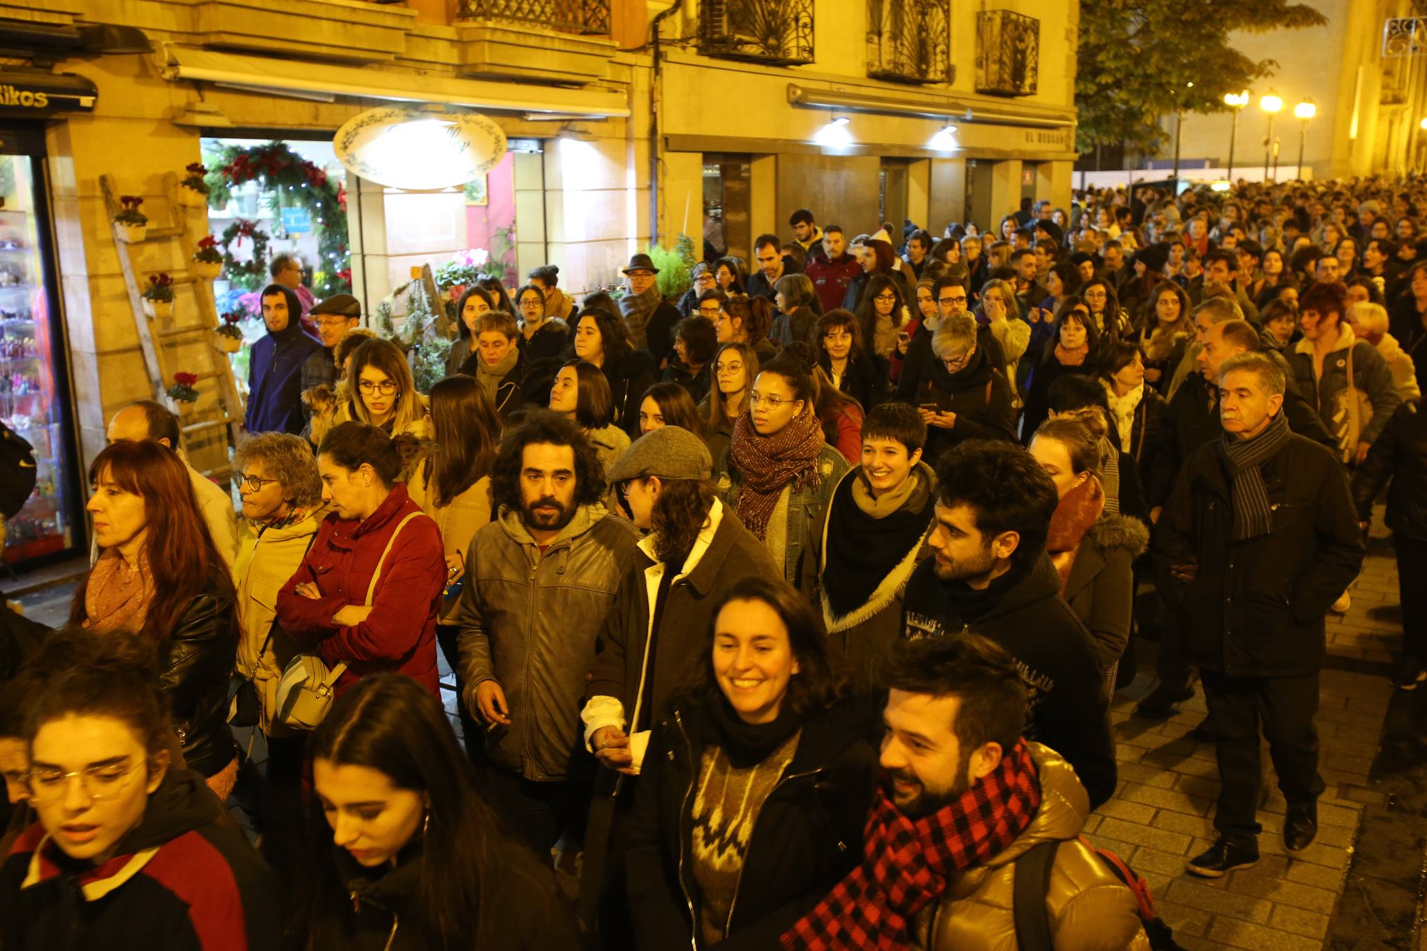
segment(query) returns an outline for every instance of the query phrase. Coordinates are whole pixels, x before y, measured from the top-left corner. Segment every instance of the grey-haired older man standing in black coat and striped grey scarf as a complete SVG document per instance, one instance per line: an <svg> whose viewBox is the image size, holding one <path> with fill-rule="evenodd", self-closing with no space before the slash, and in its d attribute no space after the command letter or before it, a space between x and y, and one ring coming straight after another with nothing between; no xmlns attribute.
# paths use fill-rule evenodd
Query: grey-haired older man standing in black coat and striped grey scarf
<svg viewBox="0 0 1427 951"><path fill-rule="evenodd" d="M1279 365L1240 354L1219 372L1224 433L1194 452L1154 538L1159 589L1183 617L1217 731L1219 838L1189 863L1212 878L1259 861L1260 719L1289 807L1283 843L1300 851L1317 834L1323 616L1364 550L1343 468L1289 431Z"/></svg>

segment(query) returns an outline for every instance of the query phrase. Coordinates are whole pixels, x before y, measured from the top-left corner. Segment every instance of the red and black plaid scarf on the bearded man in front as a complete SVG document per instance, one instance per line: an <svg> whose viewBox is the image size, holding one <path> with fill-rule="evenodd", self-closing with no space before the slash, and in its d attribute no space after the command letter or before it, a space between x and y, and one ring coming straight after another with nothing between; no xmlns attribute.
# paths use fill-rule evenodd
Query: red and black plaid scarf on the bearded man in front
<svg viewBox="0 0 1427 951"><path fill-rule="evenodd" d="M1040 807L1040 780L1026 741L959 800L908 818L882 788L868 814L863 861L782 935L788 951L899 951L908 922L946 880L982 865L1026 831Z"/></svg>

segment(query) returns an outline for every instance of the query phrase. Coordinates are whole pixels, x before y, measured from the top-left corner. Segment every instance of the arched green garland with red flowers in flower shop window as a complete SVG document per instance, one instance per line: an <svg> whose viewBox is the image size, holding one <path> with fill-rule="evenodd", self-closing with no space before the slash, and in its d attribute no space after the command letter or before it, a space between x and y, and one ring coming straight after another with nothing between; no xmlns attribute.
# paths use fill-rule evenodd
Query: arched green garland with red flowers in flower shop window
<svg viewBox="0 0 1427 951"><path fill-rule="evenodd" d="M307 208L321 258L313 267L313 292L318 298L351 292L347 190L340 181L332 181L327 171L278 141L251 148L224 148L214 164L217 167L207 175L210 205L225 208L233 185L255 180L277 195L280 210ZM233 271L228 274L233 275Z"/></svg>

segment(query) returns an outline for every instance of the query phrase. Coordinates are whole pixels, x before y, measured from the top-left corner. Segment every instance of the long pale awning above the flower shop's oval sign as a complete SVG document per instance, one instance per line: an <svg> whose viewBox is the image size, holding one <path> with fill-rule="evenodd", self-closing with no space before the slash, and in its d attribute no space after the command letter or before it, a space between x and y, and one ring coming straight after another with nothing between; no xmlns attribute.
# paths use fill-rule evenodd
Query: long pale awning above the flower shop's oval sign
<svg viewBox="0 0 1427 951"><path fill-rule="evenodd" d="M392 100L397 103L441 103L481 110L549 113L572 117L625 117L629 106L621 93L569 90L461 80L437 73L397 73L351 66L327 66L257 56L214 53L164 43L154 54L166 80L198 80L270 90Z"/></svg>

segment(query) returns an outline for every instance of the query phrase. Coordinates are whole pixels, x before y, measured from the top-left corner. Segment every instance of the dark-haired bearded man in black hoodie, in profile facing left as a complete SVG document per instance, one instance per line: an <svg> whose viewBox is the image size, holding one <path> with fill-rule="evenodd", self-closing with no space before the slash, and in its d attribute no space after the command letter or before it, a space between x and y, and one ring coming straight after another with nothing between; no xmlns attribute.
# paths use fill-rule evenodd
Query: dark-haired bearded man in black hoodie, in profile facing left
<svg viewBox="0 0 1427 951"><path fill-rule="evenodd" d="M908 582L902 636L977 633L1007 650L1030 739L1069 760L1096 808L1114 793L1114 741L1099 652L1046 555L1056 486L1020 446L982 439L946 452L936 480L933 557Z"/></svg>

